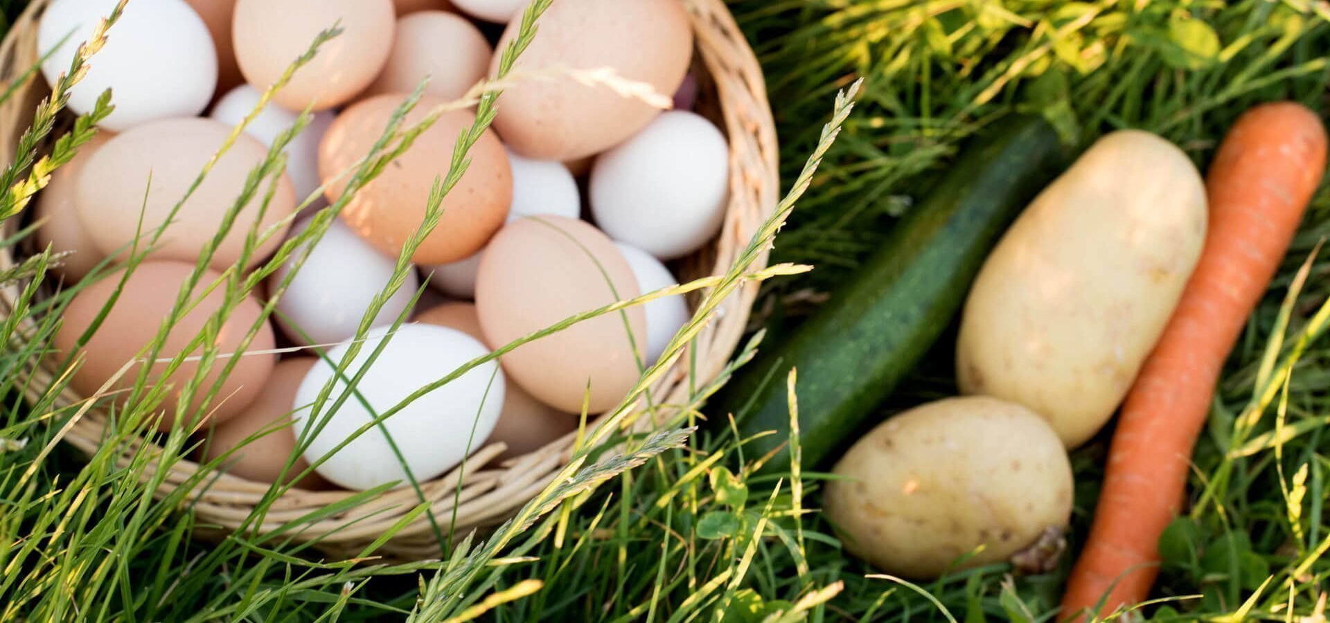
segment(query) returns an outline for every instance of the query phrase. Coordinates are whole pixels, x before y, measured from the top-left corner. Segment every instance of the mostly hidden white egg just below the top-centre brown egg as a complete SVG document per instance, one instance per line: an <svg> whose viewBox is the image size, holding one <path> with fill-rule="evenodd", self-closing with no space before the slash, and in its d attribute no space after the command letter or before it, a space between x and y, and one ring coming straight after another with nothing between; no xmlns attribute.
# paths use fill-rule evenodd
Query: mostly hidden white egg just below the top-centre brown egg
<svg viewBox="0 0 1330 623"><path fill-rule="evenodd" d="M263 93L258 89L239 85L217 101L210 117L226 125L239 125L254 110L261 97ZM271 147L277 135L291 129L297 118L299 118L298 113L269 102L267 106L263 106L263 112L245 126L245 133ZM330 110L314 113L310 125L286 143L286 174L291 178L291 185L295 186L295 197L299 202L314 194L322 185L319 181L319 141L323 139L323 133L332 125L334 118L335 114ZM322 198L322 193L319 193L319 198ZM319 203L323 201L315 201L311 207L319 207Z"/></svg>

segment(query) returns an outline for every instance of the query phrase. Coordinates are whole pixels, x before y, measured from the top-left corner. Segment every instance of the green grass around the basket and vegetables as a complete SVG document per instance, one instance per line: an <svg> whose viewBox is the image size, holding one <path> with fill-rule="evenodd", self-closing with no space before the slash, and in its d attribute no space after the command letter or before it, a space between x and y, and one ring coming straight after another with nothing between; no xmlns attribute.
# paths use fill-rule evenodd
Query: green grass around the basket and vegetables
<svg viewBox="0 0 1330 623"><path fill-rule="evenodd" d="M834 291L928 190L966 138L1004 114L1040 112L1077 146L1115 128L1154 130L1204 166L1246 106L1295 98L1325 110L1330 78L1330 11L1322 3L730 5L769 74L782 170L793 189L783 207L793 207L806 190L777 239L774 259L817 267L809 274L782 271L790 275L767 283L754 321L754 328L767 329L767 340L778 340ZM0 8L12 16L16 7ZM866 82L858 108L833 145L823 124L835 93L859 77ZM420 129L390 129L376 155L348 175L372 178ZM464 161L466 142L459 142L455 163ZM822 157L813 177L805 175L810 154ZM274 149L246 191L267 190L265 181L279 166ZM23 167L15 173L12 181L31 179ZM448 187L450 179L440 179L435 199ZM20 205L19 195L7 195L13 197L7 205ZM432 206L436 217L438 201ZM330 219L325 217L323 226ZM314 230L310 236L321 235ZM251 240L262 234L251 231ZM1168 561L1157 596L1202 596L1153 611L1160 620L1234 616L1245 603L1248 618L1291 620L1317 612L1330 575L1323 559L1330 547L1330 436L1322 426L1330 408L1330 347L1315 340L1323 331L1318 312L1330 298L1330 254L1313 258L1301 287L1294 275L1327 234L1330 193L1322 191L1225 372L1194 457L1190 490L1200 503L1165 539ZM298 252L299 243L283 246L265 266ZM25 270L40 276L45 262L39 256ZM231 298L242 295L266 270L254 278L231 271L217 287ZM741 280L770 276L746 275L741 263L708 287L724 294ZM382 300L395 287L400 280L386 284ZM35 295L31 290L31 308L19 316L45 319L40 337L55 329L52 312L68 294L48 302ZM182 291L180 308L197 295ZM371 310L366 317L372 316ZM673 351L700 328L700 321L686 327ZM134 453L128 468L116 466L112 444L85 457L56 442L80 405L55 408L51 397L59 384L37 388L45 391L37 392L45 396L40 400L20 400L24 388L12 371L43 353L40 339L19 345L15 331L12 321L0 325L0 339L11 344L0 352L0 389L8 397L0 418L0 618L1049 620L1068 567L1064 561L1051 574L1016 577L1005 565L991 565L918 586L871 577L871 569L842 555L817 513L823 474L814 469L821 466L750 476L757 457L745 453L729 414L700 404L714 387L698 388L698 404L661 436L632 440L625 454L601 457L597 444L588 444L567 470L565 485L547 490L493 537L459 543L446 561L322 561L289 539L298 522L277 535L241 531L221 543L201 542L190 533L202 526L180 494L160 501L150 495L158 476L149 460L174 461L189 450L189 440L173 434L162 440L165 456ZM954 392L950 348L944 343L936 351L883 406L883 417ZM648 379L660 371L648 369ZM160 388L140 381L137 391L136 406L120 413L120 440L145 429L153 406L173 408ZM330 387L326 400L352 397ZM685 440L682 432L693 426ZM1073 456L1073 547L1092 513L1103 454L1101 436ZM206 484L206 474L196 482ZM446 529L447 518L434 519ZM374 557L372 549L364 554Z"/></svg>

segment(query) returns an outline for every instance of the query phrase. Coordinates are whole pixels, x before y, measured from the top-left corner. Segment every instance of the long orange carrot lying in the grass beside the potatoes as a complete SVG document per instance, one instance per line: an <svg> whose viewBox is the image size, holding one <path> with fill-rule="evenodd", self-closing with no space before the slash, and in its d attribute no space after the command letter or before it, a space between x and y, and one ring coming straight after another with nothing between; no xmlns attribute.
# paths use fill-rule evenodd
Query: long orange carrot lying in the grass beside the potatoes
<svg viewBox="0 0 1330 623"><path fill-rule="evenodd" d="M1064 619L1087 608L1107 615L1149 594L1158 539L1184 499L1220 371L1325 167L1325 128L1293 102L1249 110L1220 145L1206 179L1205 250L1123 405L1095 523L1063 595Z"/></svg>

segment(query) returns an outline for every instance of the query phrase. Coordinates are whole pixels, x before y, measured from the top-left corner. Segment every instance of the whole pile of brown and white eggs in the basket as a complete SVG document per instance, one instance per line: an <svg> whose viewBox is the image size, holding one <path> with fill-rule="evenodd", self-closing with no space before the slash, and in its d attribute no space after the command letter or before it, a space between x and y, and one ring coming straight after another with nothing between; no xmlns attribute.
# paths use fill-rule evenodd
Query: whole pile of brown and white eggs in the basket
<svg viewBox="0 0 1330 623"><path fill-rule="evenodd" d="M49 82L68 69L77 44L116 4L51 3L39 29L41 49L55 50L43 65ZM496 50L516 35L525 4L130 1L69 98L69 108L82 114L112 88L116 109L39 198L39 242L72 252L60 267L68 282L108 259L114 264L136 238L161 228L233 128L258 105L261 92L277 84L321 31L338 24L343 32L275 93L161 230L158 244L82 348L84 364L72 387L92 396L133 384L137 368L117 373L154 339L200 250L301 110L311 109L314 121L287 146L286 173L263 185L259 195L270 195L266 211L258 218L263 197L241 210L230 235L217 244L203 284L221 279L243 256L255 219L261 232L275 228L291 236L310 223L309 213L298 214L302 205L313 211L339 201L350 171L422 80L430 77L407 124L492 76ZM354 375L383 347L358 384L359 396L332 413L326 413L329 402L319 414L327 424L310 440L305 460L323 457L375 413L492 348L575 313L676 284L666 262L718 234L729 193L729 147L713 124L689 112L697 89L689 76L693 31L681 0L559 0L539 24L517 62L529 80L505 86L492 129L471 149L469 167L444 198L438 227L411 258L418 271L383 304L347 368ZM676 109L661 112L605 85L575 81L567 68L612 68L622 78L674 93ZM447 175L459 132L473 121L473 109L444 113L346 202L298 271L291 260L269 278L269 291L290 278L275 303L277 321L258 323L263 300L255 295L215 331L218 352L230 353L261 324L247 355L218 359L197 392L206 393L233 364L206 406L203 458L230 453L225 469L233 474L278 478L297 432L309 424L309 405L334 384L327 361L347 355L371 299L420 227L435 179ZM282 240L271 235L247 267L261 264ZM410 310L420 279L430 280L434 302L422 299ZM73 298L55 337L60 352L78 348L116 282L92 283ZM189 348L223 299L217 288L192 307L160 356ZM681 296L661 298L524 344L386 420L396 449L371 430L297 486L403 484L403 462L424 481L487 444L505 444L508 456L539 449L572 432L584 404L591 414L617 405L689 316ZM383 344L399 317L410 320ZM307 348L267 355L293 349L279 347ZM327 359L313 356L314 348ZM169 379L161 379L161 368L154 364L149 377L178 396L198 363L186 360ZM344 387L336 380L332 396ZM168 413L160 428L173 425ZM231 452L261 432L269 433Z"/></svg>

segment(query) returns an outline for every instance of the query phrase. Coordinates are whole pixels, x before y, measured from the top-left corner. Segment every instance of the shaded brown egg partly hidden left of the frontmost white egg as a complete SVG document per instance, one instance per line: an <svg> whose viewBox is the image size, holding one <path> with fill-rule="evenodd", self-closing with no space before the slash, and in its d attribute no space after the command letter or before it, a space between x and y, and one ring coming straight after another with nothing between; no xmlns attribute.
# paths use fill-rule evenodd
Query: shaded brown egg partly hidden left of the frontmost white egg
<svg viewBox="0 0 1330 623"><path fill-rule="evenodd" d="M209 433L203 446L203 461L215 461L227 452L221 469L231 476L254 482L277 482L287 458L295 452L295 440L301 433L289 422L295 409L295 391L301 388L305 375L318 363L317 357L297 357L281 361L273 368L263 391L243 413L219 424ZM278 428L281 426L281 428ZM261 432L265 434L255 437ZM250 440L249 444L245 444ZM286 472L286 482L291 482L301 472L309 469L305 457L297 457ZM318 473L301 478L299 489L325 489L329 486Z"/></svg>

